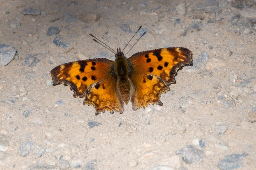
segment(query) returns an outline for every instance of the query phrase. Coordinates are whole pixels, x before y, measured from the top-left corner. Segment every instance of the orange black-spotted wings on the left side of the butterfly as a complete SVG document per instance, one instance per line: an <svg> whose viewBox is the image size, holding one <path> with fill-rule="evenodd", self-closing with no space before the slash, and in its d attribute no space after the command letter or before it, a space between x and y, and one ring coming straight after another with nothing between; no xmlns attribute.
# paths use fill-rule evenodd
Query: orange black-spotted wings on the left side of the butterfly
<svg viewBox="0 0 256 170"><path fill-rule="evenodd" d="M84 105L93 105L100 112L123 112L116 93L114 62L105 58L87 59L59 65L50 72L53 85L64 84L74 97L85 97Z"/></svg>

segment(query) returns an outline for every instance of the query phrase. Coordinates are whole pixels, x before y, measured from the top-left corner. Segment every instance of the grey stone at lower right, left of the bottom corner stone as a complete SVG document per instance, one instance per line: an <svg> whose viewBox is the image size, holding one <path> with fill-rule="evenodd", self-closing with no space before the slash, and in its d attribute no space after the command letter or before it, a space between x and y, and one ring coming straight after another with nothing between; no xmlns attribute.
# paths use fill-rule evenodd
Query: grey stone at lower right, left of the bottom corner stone
<svg viewBox="0 0 256 170"><path fill-rule="evenodd" d="M183 161L186 164L191 164L193 162L202 162L204 158L204 151L199 150L194 145L187 145L176 152L176 155L181 155Z"/></svg>

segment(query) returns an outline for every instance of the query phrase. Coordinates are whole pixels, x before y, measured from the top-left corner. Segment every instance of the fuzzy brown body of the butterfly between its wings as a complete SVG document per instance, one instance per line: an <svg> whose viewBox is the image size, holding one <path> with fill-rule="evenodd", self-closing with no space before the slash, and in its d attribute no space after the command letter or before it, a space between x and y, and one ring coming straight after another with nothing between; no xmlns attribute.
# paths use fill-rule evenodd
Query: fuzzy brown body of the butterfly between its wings
<svg viewBox="0 0 256 170"><path fill-rule="evenodd" d="M128 78L128 63L126 57L121 49L117 48L116 59L115 59L115 71L118 79L118 89L125 102L128 104L130 100L130 89L131 83Z"/></svg>

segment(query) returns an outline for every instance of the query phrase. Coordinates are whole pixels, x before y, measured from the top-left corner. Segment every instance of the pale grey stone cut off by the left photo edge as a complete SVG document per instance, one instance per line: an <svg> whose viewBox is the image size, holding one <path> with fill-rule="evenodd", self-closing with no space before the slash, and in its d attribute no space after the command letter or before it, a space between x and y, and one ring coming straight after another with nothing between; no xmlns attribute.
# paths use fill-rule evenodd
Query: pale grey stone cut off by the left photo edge
<svg viewBox="0 0 256 170"><path fill-rule="evenodd" d="M11 45L0 44L0 65L8 65L15 54L16 50Z"/></svg>

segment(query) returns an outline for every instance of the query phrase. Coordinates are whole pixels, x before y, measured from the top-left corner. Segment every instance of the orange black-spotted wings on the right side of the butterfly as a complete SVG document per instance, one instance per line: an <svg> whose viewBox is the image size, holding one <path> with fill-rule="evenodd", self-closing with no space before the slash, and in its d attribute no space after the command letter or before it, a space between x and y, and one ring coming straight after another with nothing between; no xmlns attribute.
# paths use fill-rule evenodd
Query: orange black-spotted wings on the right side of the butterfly
<svg viewBox="0 0 256 170"><path fill-rule="evenodd" d="M129 77L134 84L131 97L133 109L145 108L150 103L163 105L160 95L175 83L177 70L192 64L192 52L183 47L143 51L127 59Z"/></svg>

